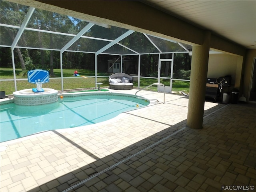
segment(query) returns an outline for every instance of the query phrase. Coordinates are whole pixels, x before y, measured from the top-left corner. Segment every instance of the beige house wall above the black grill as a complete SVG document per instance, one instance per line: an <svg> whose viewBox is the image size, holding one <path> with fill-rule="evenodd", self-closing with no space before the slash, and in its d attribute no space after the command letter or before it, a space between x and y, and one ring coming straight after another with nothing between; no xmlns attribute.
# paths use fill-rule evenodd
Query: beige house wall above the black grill
<svg viewBox="0 0 256 192"><path fill-rule="evenodd" d="M229 54L210 54L208 62L208 78L219 78L231 75L231 84L234 86L238 56Z"/></svg>

